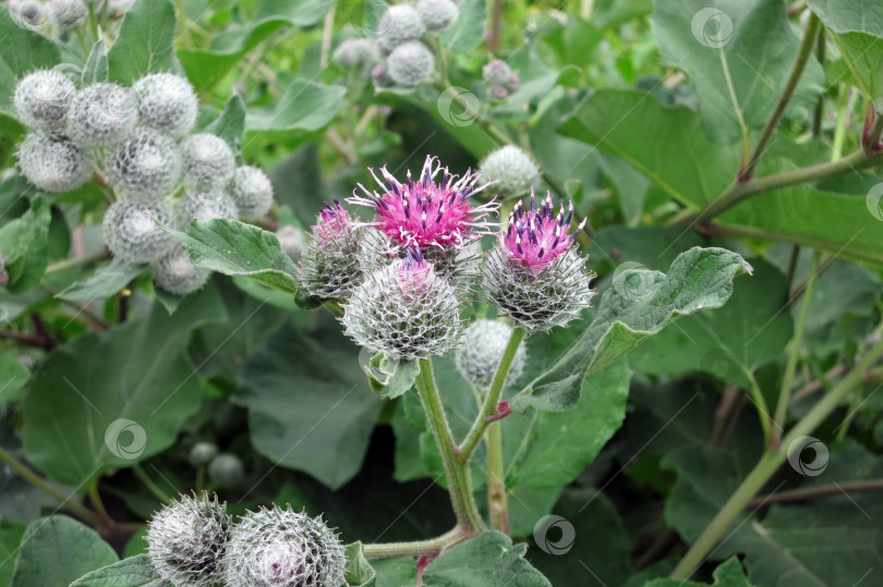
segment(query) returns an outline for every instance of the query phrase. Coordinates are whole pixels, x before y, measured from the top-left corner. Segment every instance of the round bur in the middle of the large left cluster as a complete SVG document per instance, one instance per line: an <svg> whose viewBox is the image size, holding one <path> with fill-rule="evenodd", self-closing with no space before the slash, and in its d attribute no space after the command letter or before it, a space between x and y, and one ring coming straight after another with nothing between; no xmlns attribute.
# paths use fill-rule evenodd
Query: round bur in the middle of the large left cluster
<svg viewBox="0 0 883 587"><path fill-rule="evenodd" d="M110 185L129 199L149 201L169 194L181 178L181 151L174 140L138 129L107 161Z"/></svg>

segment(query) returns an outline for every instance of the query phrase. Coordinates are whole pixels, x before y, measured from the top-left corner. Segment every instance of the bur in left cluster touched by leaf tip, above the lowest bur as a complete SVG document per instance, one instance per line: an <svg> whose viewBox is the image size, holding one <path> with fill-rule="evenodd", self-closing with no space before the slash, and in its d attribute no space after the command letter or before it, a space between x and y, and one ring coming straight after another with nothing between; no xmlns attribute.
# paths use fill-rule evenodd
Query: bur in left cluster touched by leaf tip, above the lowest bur
<svg viewBox="0 0 883 587"><path fill-rule="evenodd" d="M160 229L154 219L172 224L172 205L114 201L105 212L105 244L120 259L133 265L155 262L172 252L178 241Z"/></svg>

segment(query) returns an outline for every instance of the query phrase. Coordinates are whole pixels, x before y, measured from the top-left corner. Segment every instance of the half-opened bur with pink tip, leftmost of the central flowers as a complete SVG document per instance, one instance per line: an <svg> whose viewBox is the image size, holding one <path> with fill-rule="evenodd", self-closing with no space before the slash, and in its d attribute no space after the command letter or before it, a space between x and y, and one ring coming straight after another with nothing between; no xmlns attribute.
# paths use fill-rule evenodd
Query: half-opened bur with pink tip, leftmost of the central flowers
<svg viewBox="0 0 883 587"><path fill-rule="evenodd" d="M298 274L298 281L310 295L336 299L348 294L362 277L356 254L363 230L337 198L334 205L325 203L312 227Z"/></svg>

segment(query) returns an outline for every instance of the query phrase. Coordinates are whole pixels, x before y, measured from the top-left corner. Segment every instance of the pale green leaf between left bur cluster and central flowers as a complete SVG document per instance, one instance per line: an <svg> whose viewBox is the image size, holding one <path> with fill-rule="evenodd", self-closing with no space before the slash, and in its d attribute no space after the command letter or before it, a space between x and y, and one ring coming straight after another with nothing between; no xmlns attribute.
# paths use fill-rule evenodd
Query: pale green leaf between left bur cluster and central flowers
<svg viewBox="0 0 883 587"><path fill-rule="evenodd" d="M244 276L290 294L298 292L298 267L271 232L226 218L194 220L186 233L159 225L188 247L196 267Z"/></svg>

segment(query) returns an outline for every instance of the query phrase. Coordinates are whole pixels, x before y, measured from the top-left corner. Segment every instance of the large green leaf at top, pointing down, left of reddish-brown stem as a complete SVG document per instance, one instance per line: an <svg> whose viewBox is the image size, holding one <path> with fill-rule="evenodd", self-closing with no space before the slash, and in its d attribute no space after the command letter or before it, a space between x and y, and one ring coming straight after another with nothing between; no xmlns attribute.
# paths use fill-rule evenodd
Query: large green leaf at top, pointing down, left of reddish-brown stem
<svg viewBox="0 0 883 587"><path fill-rule="evenodd" d="M749 129L766 122L800 45L782 2L657 0L652 23L663 59L690 76L712 140L738 140L740 118ZM810 60L801 84L813 86L815 98L822 83L821 66Z"/></svg>

